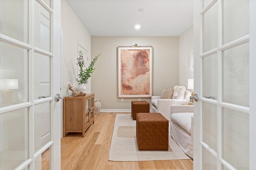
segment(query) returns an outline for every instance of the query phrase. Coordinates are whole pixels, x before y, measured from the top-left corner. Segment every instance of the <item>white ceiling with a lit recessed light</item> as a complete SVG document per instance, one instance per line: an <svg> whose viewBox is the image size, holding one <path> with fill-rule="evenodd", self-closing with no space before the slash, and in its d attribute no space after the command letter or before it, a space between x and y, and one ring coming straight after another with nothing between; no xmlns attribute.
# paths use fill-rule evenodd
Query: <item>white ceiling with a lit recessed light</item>
<svg viewBox="0 0 256 170"><path fill-rule="evenodd" d="M66 1L92 36L179 36L193 25L193 0Z"/></svg>

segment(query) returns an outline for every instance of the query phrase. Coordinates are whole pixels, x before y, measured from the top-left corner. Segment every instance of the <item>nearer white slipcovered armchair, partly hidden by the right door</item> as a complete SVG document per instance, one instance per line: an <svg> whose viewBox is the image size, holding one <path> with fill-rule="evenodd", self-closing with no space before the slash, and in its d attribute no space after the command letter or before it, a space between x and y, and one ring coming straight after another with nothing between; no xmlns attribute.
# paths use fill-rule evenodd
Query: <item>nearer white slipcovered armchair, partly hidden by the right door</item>
<svg viewBox="0 0 256 170"><path fill-rule="evenodd" d="M170 118L171 137L188 156L193 158L194 107L191 105L172 105Z"/></svg>

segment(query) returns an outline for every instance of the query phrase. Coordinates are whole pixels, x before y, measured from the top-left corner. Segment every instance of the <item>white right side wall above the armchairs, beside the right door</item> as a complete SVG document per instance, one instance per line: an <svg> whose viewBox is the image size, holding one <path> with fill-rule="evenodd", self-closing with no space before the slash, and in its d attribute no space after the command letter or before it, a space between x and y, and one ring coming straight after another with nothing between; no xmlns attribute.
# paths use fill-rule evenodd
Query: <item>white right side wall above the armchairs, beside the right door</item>
<svg viewBox="0 0 256 170"><path fill-rule="evenodd" d="M188 87L188 79L194 78L194 72L190 71L190 50L194 48L193 25L179 37L179 83Z"/></svg>

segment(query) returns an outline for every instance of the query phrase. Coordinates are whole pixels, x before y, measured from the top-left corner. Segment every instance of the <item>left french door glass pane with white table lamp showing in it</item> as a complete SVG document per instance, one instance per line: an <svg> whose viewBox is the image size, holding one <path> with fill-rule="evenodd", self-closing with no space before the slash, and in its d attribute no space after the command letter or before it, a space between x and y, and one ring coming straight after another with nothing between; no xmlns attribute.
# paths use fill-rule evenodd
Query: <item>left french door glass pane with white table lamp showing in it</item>
<svg viewBox="0 0 256 170"><path fill-rule="evenodd" d="M28 51L0 41L0 107L28 102Z"/></svg>

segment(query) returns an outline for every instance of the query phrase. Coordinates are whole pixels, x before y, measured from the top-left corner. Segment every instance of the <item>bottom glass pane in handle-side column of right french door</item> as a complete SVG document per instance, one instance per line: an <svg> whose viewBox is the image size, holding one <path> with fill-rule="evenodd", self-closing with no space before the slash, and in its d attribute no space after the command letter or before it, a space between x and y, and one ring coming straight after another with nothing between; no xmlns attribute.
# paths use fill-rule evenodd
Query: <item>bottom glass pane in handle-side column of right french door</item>
<svg viewBox="0 0 256 170"><path fill-rule="evenodd" d="M203 170L217 170L216 158L203 148Z"/></svg>

